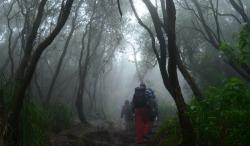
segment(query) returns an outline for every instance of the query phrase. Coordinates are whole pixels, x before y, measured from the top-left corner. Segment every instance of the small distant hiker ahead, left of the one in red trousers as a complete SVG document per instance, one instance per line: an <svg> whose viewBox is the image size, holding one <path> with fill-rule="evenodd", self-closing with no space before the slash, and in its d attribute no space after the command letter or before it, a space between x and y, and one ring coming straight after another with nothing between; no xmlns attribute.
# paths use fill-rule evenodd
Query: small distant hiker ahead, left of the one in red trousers
<svg viewBox="0 0 250 146"><path fill-rule="evenodd" d="M130 130L132 128L131 123L133 115L132 115L132 107L128 100L125 101L122 107L121 118L122 119L124 118L126 130Z"/></svg>

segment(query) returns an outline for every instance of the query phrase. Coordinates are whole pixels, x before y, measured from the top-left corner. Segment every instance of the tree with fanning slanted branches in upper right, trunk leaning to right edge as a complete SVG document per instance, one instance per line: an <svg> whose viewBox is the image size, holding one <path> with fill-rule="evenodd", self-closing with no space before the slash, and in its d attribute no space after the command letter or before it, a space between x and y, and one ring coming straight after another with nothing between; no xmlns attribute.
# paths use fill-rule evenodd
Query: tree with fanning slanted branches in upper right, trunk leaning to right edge
<svg viewBox="0 0 250 146"><path fill-rule="evenodd" d="M230 0L231 1L231 0ZM193 23L193 29L200 32L203 36L203 38L210 43L215 49L217 50L221 50L221 45L223 45L223 32L221 29L221 24L219 22L219 16L221 15L221 13L219 12L219 1L216 0L215 1L216 4L214 4L213 0L209 0L208 1L208 10L212 11L212 16L215 22L215 30L212 28L212 26L209 24L209 20L207 20L205 18L205 12L203 10L203 7L201 6L201 4L197 1L197 0L192 0L192 3L195 7L192 8L190 6L190 4L185 0L184 1L184 5L182 6L187 10L192 11L196 18L198 23L202 26L202 29L197 26L195 23ZM179 2L181 3L181 2ZM244 9L243 9L244 10ZM236 16L232 15L223 15L223 16L233 16L233 18L237 18ZM238 20L238 18L236 19ZM198 25L199 25L198 24ZM223 50L222 50L223 51ZM250 76L249 76L249 66L245 63L238 63L235 61L234 58L232 58L231 56L229 56L228 54L224 53L224 61L229 64L239 75L241 75L246 81L250 81Z"/></svg>

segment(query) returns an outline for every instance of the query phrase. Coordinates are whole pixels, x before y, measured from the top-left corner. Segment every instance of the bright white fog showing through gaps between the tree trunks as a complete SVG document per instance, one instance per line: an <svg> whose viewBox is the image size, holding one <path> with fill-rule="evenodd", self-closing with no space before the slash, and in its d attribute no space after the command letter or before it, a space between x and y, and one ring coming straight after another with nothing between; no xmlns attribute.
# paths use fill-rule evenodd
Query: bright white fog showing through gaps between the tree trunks
<svg viewBox="0 0 250 146"><path fill-rule="evenodd" d="M52 3L52 2L51 2ZM71 40L69 41L69 44L67 46L66 55L63 58L62 61L62 67L60 69L60 73L58 74L58 78L55 83L55 88L53 89L53 102L61 101L66 102L72 109L74 109L74 101L77 96L77 88L78 88L78 60L79 60L79 53L81 52L81 33L84 32L84 27L87 26L89 17L91 15L89 14L91 11L91 2L80 2L84 3L80 7L79 10L77 10L77 14L79 15L79 20L77 20L76 25L78 25L74 31L74 35L72 36ZM189 27L188 19L190 19L192 16L192 13L187 13L187 11L183 10L180 2L176 2L177 7L177 35L178 39L182 39L181 37L185 37L185 34L182 35L182 32L179 33L180 30L182 30L184 27ZM246 2L247 3L247 2ZM5 74L11 74L11 70L9 66L6 66L6 62L8 62L8 43L10 44L10 47L13 47L12 51L12 58L13 58L13 64L14 64L14 70L17 69L18 64L20 62L20 57L22 56L21 51L21 40L19 40L18 33L22 27L22 25L19 25L18 22L15 22L14 20L10 20L12 34L10 34L7 29L6 25L6 19L4 19L6 12L10 7L9 5L12 4L12 1L4 1L1 3L2 9L2 15L3 20L1 22L1 35L0 35L0 47L1 47L1 66L4 69ZM55 3L54 3L55 4ZM158 3L159 4L159 3ZM224 4L224 2L221 2L221 5ZM34 4L35 5L35 4ZM101 5L104 5L101 4ZM154 5L157 5L154 3ZM58 35L58 37L55 38L55 40L52 42L51 45L48 46L48 48L43 52L41 59L38 62L38 67L36 69L36 73L34 74L33 80L31 82L30 86L30 93L34 97L39 97L40 100L45 100L41 98L46 98L46 94L49 90L50 82L52 80L52 76L55 72L55 68L58 66L58 61L60 60L60 57L63 53L63 49L65 48L65 42L67 39L68 33L70 33L70 30L72 28L71 21L73 20L74 12L76 11L77 3L75 3L72 16L69 17L69 20L66 22L66 26L63 28L62 32ZM89 73L87 73L86 76L86 83L85 83L85 90L86 92L83 95L84 100L86 102L83 102L83 106L85 107L85 110L87 110L86 113L89 113L89 106L91 105L88 102L92 102L91 96L96 96L96 100L94 101L96 103L102 102L104 104L104 110L105 114L107 114L111 119L115 119L116 121L119 119L121 107L126 99L131 100L134 93L134 88L139 85L141 82L138 78L138 72L136 70L135 65L135 58L133 54L133 47L135 48L137 52L137 61L143 62L145 61L145 56L153 56L151 48L150 48L150 42L147 42L147 39L149 39L148 35L146 34L145 30L137 23L136 18L134 17L134 14L131 13L131 8L129 7L129 4L125 1L121 2L123 16L120 16L116 4L113 3L110 5L109 8L107 8L107 11L105 13L105 24L104 26L104 35L102 38L99 38L101 40L98 40L98 34L95 36L93 35L93 39L96 39L97 41L100 41L100 45L97 46L96 52L93 52L92 56L90 56L91 65L89 65ZM246 5L247 6L247 5ZM32 6L30 6L32 7ZM148 21L147 23L149 25L152 25L151 22L149 22L149 11L147 10L146 6L143 4L143 2L136 1L135 7L138 10L139 17L142 17L144 21ZM225 6L226 7L226 6ZM15 13L18 12L18 5L15 3L13 4L13 8L9 15L15 16ZM16 9L16 10L15 10ZM51 10L58 11L57 7L50 8ZM225 11L229 11L226 8ZM99 11L99 12L98 12ZM98 10L96 13L101 13L102 9ZM115 11L115 13L113 13ZM226 13L226 12L225 12ZM248 12L247 12L248 13ZM34 15L34 14L30 14ZM50 15L50 14L48 14ZM56 23L56 19L52 17L53 15L49 16L46 20L43 20L43 24L41 24L41 28L39 29L40 32L38 34L40 35L37 39L36 43L38 44L39 41L42 41L44 37L49 34L49 30L51 30L50 27L53 28L53 25ZM18 15L15 16L18 20ZM20 16L21 17L21 16ZM33 16L34 17L34 16ZM20 22L24 21L25 17L20 18ZM13 18L14 19L14 18ZM102 19L97 19L96 21L101 22ZM186 21L186 22L185 22ZM225 36L228 36L229 39L231 39L230 36L232 36L233 33L239 31L240 25L236 25L235 21L233 21L231 18L226 18L223 21L227 21L228 23L232 23L230 25L231 28L233 28L233 31L228 31L227 29L231 29L228 27L223 27L223 33L225 32ZM51 24L51 26L49 25ZM95 29L93 30L95 33L98 33L98 24L96 25ZM186 26L185 26L186 25ZM225 24L228 25L228 24ZM75 27L75 26L74 26ZM185 31L183 31L186 33ZM228 34L228 32L230 32ZM193 32L192 32L193 33ZM193 33L195 35L195 33ZM8 36L11 35L11 41L8 42ZM142 38L142 37L145 38ZM188 36L187 36L188 37ZM17 41L15 41L17 39ZM142 42L146 40L146 43ZM186 38L184 38L186 39ZM194 38L192 38L194 39ZM113 42L110 42L113 41ZM181 42L182 40L178 40ZM177 41L177 42L178 42ZM87 43L87 42L85 42ZM97 42L92 41L92 47L96 45ZM144 44L143 44L144 43ZM148 44L147 44L148 43ZM185 44L186 45L186 44ZM15 49L15 48L17 49ZM144 47L144 48L143 48ZM180 46L180 48L185 49L185 46ZM202 55L203 52L209 51L209 48L211 49L211 46L207 45L205 41L197 45L198 53ZM106 49L108 51L106 54L100 58L100 60L97 60L98 58L98 52L102 53L102 49ZM91 52L91 51L90 51ZM145 52L151 52L149 54L144 54ZM21 53L21 54L20 54ZM85 52L86 53L86 52ZM214 52L211 52L212 54ZM220 54L220 53L219 53ZM106 57L106 58L105 58ZM219 58L217 58L219 59ZM213 60L213 59L211 59ZM100 70L95 70L95 67L98 68L98 61L99 64L103 63L103 67ZM93 65L92 65L93 64ZM96 65L95 65L96 64ZM211 63L212 64L212 63ZM207 64L209 66L209 64ZM227 67L226 64L222 63L222 66ZM155 90L157 98L160 102L164 101L166 104L174 105L174 101L171 98L168 91L165 89L161 73L159 71L159 67L157 63L155 63L150 68L146 68L142 65L141 71L143 74L143 81L146 83L146 85L152 89ZM220 68L220 67L219 67ZM198 69L199 70L199 69ZM230 69L229 69L230 70ZM230 72L233 73L233 70ZM199 74L199 73L195 73ZM227 72L228 74L228 72ZM230 73L229 73L230 74ZM233 73L235 74L235 73ZM7 75L8 76L8 75ZM182 88L183 95L185 99L188 101L192 97L191 89L189 88L188 84L184 80L181 73L178 73L179 76L179 82ZM97 81L93 81L95 78L98 78ZM36 80L36 81L35 81ZM97 82L97 83L95 83ZM95 84L96 87L95 87ZM96 89L95 89L96 88ZM96 92L96 93L93 93ZM100 101L99 101L100 100ZM93 106L93 105L91 105ZM77 117L76 117L77 118ZM111 120L113 121L113 120Z"/></svg>

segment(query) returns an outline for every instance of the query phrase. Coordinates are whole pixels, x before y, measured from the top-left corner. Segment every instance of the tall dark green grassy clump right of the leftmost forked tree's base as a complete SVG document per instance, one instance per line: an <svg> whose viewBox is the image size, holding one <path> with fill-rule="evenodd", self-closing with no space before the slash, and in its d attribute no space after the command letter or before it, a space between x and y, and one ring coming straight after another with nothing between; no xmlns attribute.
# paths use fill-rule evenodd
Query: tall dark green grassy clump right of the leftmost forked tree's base
<svg viewBox="0 0 250 146"><path fill-rule="evenodd" d="M42 105L25 100L21 114L22 146L48 146L50 118Z"/></svg>

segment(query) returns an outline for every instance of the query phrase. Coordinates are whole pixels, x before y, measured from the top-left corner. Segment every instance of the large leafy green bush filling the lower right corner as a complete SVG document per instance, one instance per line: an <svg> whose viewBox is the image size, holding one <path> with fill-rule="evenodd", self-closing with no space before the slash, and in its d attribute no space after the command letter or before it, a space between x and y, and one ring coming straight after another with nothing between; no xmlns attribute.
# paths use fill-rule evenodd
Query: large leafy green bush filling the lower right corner
<svg viewBox="0 0 250 146"><path fill-rule="evenodd" d="M250 137L250 90L241 80L210 88L206 98L193 102L189 114L201 144L247 146Z"/></svg>

